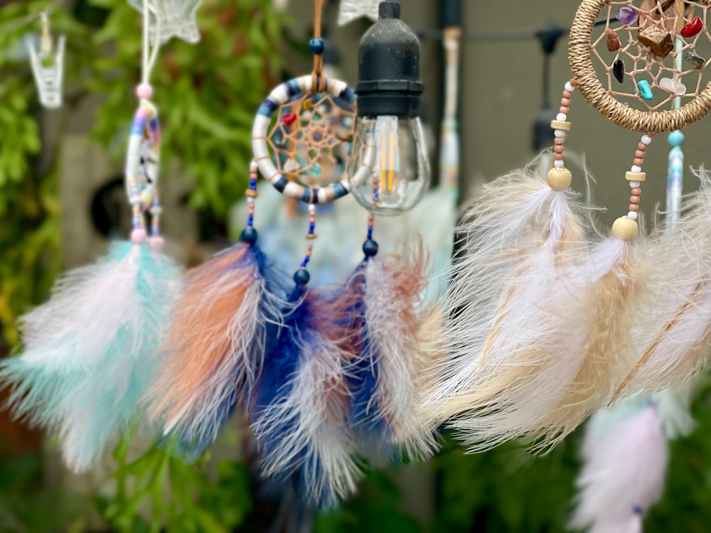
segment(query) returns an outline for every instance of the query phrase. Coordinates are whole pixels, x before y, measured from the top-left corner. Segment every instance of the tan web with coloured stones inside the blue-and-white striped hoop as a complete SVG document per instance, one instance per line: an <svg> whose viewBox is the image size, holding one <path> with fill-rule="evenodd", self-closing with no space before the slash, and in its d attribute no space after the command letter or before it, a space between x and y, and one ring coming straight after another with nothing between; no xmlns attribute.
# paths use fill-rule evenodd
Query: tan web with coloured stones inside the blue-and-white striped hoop
<svg viewBox="0 0 711 533"><path fill-rule="evenodd" d="M328 185L343 175L355 131L355 107L327 92L300 93L281 104L265 138L289 181Z"/></svg>

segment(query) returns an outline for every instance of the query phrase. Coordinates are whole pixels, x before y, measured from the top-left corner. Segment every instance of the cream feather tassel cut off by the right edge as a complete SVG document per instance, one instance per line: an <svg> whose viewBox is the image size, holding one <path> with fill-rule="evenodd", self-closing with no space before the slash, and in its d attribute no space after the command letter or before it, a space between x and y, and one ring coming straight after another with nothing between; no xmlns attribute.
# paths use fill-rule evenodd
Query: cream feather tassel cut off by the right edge
<svg viewBox="0 0 711 533"><path fill-rule="evenodd" d="M646 249L646 260L658 265L653 293L634 330L636 365L612 401L684 384L711 364L711 175L699 175L685 216Z"/></svg>

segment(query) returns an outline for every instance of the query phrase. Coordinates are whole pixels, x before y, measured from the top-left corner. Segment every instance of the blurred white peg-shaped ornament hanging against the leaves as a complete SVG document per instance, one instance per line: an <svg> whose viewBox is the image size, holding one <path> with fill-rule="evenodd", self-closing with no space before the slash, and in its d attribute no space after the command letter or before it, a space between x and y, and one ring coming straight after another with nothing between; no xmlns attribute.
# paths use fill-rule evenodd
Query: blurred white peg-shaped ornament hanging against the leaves
<svg viewBox="0 0 711 533"><path fill-rule="evenodd" d="M48 13L41 13L40 19L42 33L39 48L33 36L26 37L25 44L30 55L32 75L35 78L40 103L46 109L58 109L62 107L66 39L65 36L59 36L56 41L53 41Z"/></svg>

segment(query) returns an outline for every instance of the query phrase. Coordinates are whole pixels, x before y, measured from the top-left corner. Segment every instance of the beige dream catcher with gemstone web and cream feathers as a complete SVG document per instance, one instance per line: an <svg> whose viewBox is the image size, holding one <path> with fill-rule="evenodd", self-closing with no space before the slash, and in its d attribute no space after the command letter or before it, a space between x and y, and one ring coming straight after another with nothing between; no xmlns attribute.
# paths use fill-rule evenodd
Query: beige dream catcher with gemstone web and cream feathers
<svg viewBox="0 0 711 533"><path fill-rule="evenodd" d="M580 5L570 30L574 77L551 124L552 168L545 178L532 168L487 185L461 227L439 339L446 355L423 405L432 426L452 419L475 450L517 436L545 448L616 397L661 389L703 364L696 354L707 343L708 269L698 250L707 237L694 220L705 215L703 198L688 219L693 230L682 222L681 235L634 239L653 136L711 108L703 80L708 9L693 1ZM609 236L595 237L590 206L568 190L564 144L575 90L641 133L624 175L629 208ZM664 109L677 97L680 107Z"/></svg>

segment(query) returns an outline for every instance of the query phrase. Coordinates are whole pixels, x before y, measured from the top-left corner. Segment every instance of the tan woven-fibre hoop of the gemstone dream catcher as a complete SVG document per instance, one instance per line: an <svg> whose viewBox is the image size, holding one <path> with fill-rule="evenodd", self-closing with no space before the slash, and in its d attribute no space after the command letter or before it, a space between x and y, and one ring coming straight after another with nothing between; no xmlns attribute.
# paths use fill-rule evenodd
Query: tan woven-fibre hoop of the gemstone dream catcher
<svg viewBox="0 0 711 533"><path fill-rule="evenodd" d="M696 1L711 6L711 0ZM682 129L705 117L711 110L711 82L682 107L664 111L639 111L609 94L599 81L590 56L595 21L607 5L606 0L582 0L570 28L570 68L577 88L587 102L615 124L647 134Z"/></svg>

